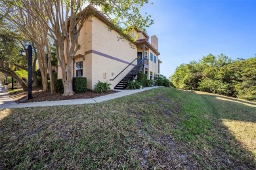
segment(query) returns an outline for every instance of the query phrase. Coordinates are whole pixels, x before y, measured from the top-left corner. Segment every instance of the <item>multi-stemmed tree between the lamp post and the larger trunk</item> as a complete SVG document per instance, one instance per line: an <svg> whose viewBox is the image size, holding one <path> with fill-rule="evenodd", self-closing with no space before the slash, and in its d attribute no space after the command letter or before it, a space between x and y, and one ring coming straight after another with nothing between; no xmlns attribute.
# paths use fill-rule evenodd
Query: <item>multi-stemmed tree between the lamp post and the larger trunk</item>
<svg viewBox="0 0 256 170"><path fill-rule="evenodd" d="M38 1L35 1L35 3L37 2ZM7 18L9 22L12 22L12 24L16 25L16 27L18 27L18 30L26 37L26 39L33 42L32 45L35 58L33 59L32 71L35 84L38 84L35 74L35 63L38 59L39 68L42 75L43 91L48 90L47 73L49 72L51 80L51 92L53 92L53 75L51 72L51 61L47 63L47 59L45 56L45 51L49 52L50 48L50 42L47 36L47 27L43 27L37 20L33 18L32 10L26 10L26 5L29 5L28 3L25 4L21 1L6 0L3 4L5 7L1 8L1 14L8 10L8 12L6 12L5 14L5 18ZM41 6L38 6L38 8L42 9ZM23 46L23 48L25 49L25 46ZM51 52L49 52L48 57L51 60Z"/></svg>

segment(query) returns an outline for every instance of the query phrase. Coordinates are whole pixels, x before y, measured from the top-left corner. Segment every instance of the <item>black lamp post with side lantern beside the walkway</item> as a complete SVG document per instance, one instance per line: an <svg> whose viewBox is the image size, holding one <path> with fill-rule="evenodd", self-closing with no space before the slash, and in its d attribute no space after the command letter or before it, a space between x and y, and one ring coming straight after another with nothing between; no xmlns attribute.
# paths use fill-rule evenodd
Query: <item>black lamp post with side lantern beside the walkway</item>
<svg viewBox="0 0 256 170"><path fill-rule="evenodd" d="M28 100L32 99L32 45L26 49L28 52ZM20 56L26 56L24 50L20 50Z"/></svg>

